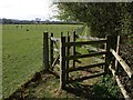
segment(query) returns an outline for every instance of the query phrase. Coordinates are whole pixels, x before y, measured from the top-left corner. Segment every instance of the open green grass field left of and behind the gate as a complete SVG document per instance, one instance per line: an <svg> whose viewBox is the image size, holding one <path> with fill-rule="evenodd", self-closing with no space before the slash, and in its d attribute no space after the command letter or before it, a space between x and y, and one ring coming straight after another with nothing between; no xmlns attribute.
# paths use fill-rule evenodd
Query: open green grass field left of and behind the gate
<svg viewBox="0 0 133 100"><path fill-rule="evenodd" d="M59 37L81 24L4 24L2 27L3 97L9 97L21 84L42 69L42 33ZM27 31L28 30L28 31Z"/></svg>

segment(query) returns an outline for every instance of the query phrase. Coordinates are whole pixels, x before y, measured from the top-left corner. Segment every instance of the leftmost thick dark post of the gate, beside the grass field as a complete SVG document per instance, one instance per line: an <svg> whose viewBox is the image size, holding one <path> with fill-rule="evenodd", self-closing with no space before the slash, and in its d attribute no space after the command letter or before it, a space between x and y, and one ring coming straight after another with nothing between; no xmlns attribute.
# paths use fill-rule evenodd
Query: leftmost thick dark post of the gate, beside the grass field
<svg viewBox="0 0 133 100"><path fill-rule="evenodd" d="M44 70L49 70L49 41L48 41L48 32L43 33L43 67Z"/></svg>

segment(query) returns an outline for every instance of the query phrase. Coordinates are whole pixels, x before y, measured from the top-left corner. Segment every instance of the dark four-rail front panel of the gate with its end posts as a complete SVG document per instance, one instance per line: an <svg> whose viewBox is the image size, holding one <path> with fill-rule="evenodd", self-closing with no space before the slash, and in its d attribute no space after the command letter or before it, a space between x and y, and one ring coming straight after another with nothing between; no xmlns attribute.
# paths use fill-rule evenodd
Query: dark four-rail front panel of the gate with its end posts
<svg viewBox="0 0 133 100"><path fill-rule="evenodd" d="M78 41L78 42L70 41L70 37L61 37L61 41L60 41L60 88L63 89L65 84L73 82L73 81L81 81L81 80L85 80L89 78L94 78L98 76L106 74L109 70L109 64L110 64L110 42L111 42L110 37L106 37L106 39L101 39L101 40ZM75 50L76 46L88 46L88 44L98 44L98 43L99 44L105 43L106 46L105 50L92 52L92 53L85 53L85 54L75 54L75 51L73 51L73 49ZM72 51L74 52L74 54L73 52L72 54L70 54L71 47L72 47ZM73 66L72 68L70 68L70 60L72 60L75 63L75 60L78 59L102 56L102 54L105 56L104 62L100 62L96 64L89 64L84 67L78 67L78 68ZM75 80L69 80L70 72L85 70L85 69L101 67L101 66L104 67L102 73L90 76L90 77L83 77L83 78L79 78Z"/></svg>

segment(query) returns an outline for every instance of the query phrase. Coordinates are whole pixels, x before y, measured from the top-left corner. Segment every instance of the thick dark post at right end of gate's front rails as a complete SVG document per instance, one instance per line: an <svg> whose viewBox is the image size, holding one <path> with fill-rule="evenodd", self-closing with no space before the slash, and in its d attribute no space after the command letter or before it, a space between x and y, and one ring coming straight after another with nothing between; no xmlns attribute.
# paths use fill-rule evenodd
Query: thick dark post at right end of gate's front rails
<svg viewBox="0 0 133 100"><path fill-rule="evenodd" d="M105 74L109 73L109 66L111 62L111 53L110 53L110 49L111 49L111 36L106 36L106 53L105 53L105 67L104 67L104 72Z"/></svg>

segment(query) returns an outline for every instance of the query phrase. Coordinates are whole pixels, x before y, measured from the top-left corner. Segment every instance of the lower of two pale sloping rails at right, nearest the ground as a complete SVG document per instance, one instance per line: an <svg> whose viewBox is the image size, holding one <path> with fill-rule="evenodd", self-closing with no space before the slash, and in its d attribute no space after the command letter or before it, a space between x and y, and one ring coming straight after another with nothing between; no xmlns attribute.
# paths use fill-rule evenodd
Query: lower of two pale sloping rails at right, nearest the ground
<svg viewBox="0 0 133 100"><path fill-rule="evenodd" d="M124 86L121 83L119 77L115 76L115 70L113 68L111 68L111 66L109 67L109 69L112 71L112 74L115 78L116 83L117 83L119 88L121 89L121 92L124 96L125 100L131 100L130 96L127 94L126 90L124 89Z"/></svg>

